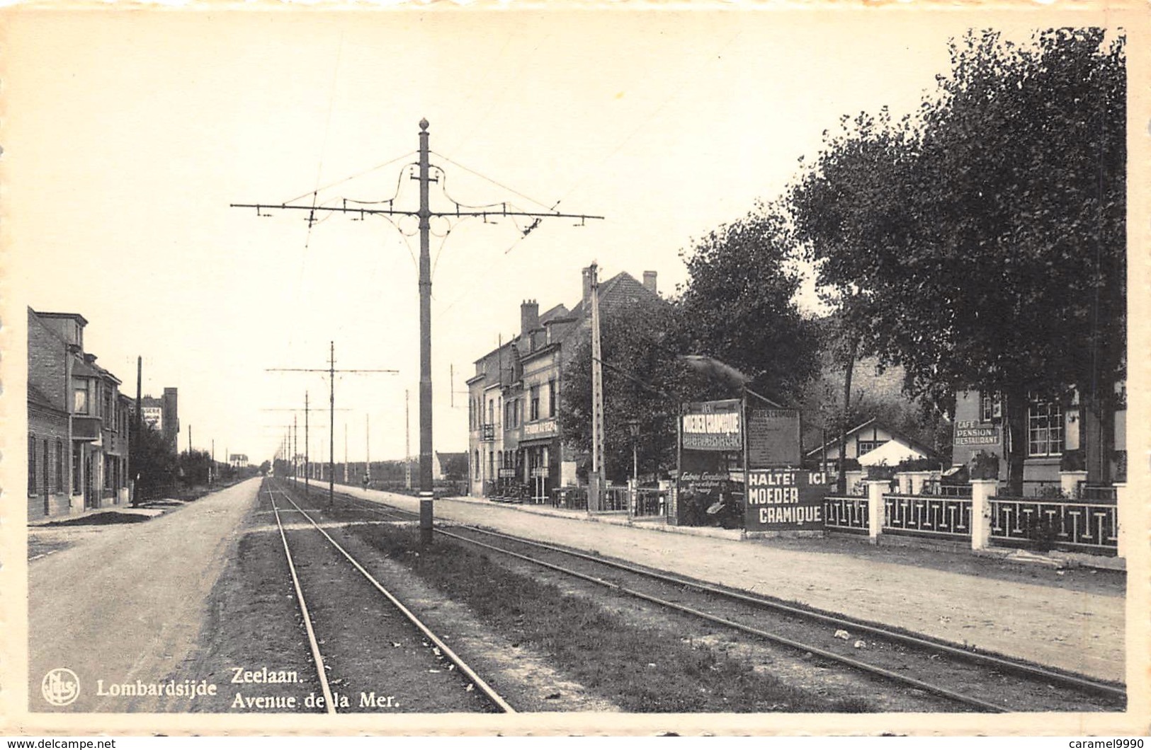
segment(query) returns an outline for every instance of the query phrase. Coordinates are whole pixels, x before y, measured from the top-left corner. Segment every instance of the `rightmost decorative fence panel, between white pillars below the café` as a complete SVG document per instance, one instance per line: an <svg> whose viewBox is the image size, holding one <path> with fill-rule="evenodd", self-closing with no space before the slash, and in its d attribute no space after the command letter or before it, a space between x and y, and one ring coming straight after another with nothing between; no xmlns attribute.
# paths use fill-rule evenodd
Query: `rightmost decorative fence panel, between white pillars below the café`
<svg viewBox="0 0 1151 750"><path fill-rule="evenodd" d="M1006 546L1113 553L1119 548L1118 506L1088 500L992 497L991 538Z"/></svg>

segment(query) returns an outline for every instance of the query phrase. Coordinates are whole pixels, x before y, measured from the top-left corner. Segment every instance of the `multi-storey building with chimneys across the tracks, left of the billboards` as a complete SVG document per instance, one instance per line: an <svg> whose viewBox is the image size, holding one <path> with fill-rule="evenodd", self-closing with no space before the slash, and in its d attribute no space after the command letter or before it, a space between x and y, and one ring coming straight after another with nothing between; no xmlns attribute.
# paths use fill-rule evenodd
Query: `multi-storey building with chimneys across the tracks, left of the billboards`
<svg viewBox="0 0 1151 750"><path fill-rule="evenodd" d="M541 315L536 300L525 300L519 335L475 360L467 381L471 495L519 487L542 498L577 484L578 457L561 441L558 408L563 369L590 336L589 271L574 307L556 305ZM655 271L643 271L642 283L627 273L600 283L601 313L657 301Z"/></svg>

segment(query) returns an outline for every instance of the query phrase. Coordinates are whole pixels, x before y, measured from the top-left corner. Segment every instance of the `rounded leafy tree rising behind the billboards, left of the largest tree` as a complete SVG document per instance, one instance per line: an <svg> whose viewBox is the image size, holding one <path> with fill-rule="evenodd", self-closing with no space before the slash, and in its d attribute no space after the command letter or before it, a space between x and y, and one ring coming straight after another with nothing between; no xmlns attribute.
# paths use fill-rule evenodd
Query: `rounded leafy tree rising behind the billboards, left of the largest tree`
<svg viewBox="0 0 1151 750"><path fill-rule="evenodd" d="M727 362L779 401L798 396L817 365L815 331L794 301L801 277L790 262L793 245L786 215L761 204L680 252L689 353Z"/></svg>

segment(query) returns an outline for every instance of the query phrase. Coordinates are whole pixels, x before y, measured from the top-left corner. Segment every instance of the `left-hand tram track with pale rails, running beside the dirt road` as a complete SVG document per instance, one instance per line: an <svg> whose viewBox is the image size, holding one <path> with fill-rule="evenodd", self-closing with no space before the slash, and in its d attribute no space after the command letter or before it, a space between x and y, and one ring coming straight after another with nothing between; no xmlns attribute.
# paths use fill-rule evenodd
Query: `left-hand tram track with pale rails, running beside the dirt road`
<svg viewBox="0 0 1151 750"><path fill-rule="evenodd" d="M274 482L265 482L260 496L275 518L322 692L307 706L280 698L272 709L516 712L323 528L319 508L302 505Z"/></svg>

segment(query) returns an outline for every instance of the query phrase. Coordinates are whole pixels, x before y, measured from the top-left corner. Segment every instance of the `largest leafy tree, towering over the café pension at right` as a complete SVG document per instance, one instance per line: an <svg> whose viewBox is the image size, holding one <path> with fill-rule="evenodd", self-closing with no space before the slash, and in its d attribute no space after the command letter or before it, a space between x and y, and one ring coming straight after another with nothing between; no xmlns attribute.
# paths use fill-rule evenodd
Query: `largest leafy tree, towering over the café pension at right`
<svg viewBox="0 0 1151 750"><path fill-rule="evenodd" d="M913 391L1001 391L1022 489L1029 393L1076 387L1105 480L1126 349L1121 39L1059 29L951 47L920 116L844 121L790 194L860 351Z"/></svg>

